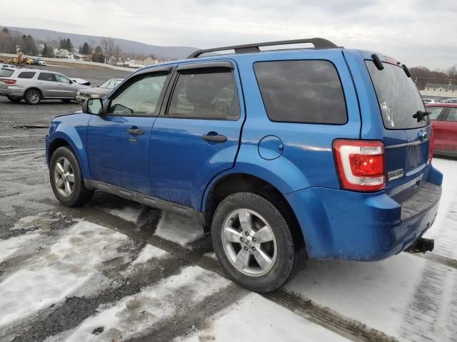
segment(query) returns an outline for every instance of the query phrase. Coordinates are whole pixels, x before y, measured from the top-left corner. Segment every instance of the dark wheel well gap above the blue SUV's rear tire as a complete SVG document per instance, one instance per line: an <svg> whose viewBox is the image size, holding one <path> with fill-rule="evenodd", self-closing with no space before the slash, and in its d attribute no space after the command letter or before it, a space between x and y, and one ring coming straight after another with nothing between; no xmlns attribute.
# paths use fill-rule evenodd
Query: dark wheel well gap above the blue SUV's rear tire
<svg viewBox="0 0 457 342"><path fill-rule="evenodd" d="M287 215L292 224L296 224L300 239L296 243L299 247L305 247L305 239L300 223L293 212L291 204L286 197L270 182L263 180L261 177L253 176L248 173L236 172L229 173L214 180L206 191L206 196L202 202L202 211L204 212L204 229L208 232L211 229L214 212L219 203L229 195L236 192L253 192L265 197L278 207L278 210Z"/></svg>

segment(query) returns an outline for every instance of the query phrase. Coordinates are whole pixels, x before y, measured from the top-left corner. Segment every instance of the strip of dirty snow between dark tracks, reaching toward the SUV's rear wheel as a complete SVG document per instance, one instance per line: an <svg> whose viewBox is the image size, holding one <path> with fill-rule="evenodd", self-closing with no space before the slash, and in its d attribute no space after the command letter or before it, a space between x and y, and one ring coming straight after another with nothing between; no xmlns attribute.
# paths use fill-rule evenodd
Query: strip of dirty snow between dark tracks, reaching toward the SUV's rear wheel
<svg viewBox="0 0 457 342"><path fill-rule="evenodd" d="M184 311L207 296L223 289L230 281L198 266L189 266L181 274L170 276L138 294L100 306L98 313L69 331L65 341L123 341L146 333L154 323ZM99 333L94 334L97 331ZM61 341L62 334L46 341Z"/></svg>

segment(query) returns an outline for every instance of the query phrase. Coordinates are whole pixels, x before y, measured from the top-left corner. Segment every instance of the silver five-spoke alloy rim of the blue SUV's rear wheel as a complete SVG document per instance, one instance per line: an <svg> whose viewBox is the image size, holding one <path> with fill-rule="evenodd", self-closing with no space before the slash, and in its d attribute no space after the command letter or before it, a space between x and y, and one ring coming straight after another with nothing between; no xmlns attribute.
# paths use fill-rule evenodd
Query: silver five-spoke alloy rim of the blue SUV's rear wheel
<svg viewBox="0 0 457 342"><path fill-rule="evenodd" d="M273 229L257 212L237 209L222 228L224 251L233 266L248 276L264 276L276 261L278 248Z"/></svg>

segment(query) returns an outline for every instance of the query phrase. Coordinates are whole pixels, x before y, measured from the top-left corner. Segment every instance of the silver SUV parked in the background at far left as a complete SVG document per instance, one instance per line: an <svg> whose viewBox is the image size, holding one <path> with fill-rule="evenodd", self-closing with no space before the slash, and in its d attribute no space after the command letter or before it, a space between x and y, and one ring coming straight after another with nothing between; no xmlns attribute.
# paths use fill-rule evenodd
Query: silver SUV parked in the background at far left
<svg viewBox="0 0 457 342"><path fill-rule="evenodd" d="M90 83L89 83L90 84ZM41 100L60 99L68 102L76 99L76 92L89 88L71 81L70 78L53 71L27 68L0 69L0 95L11 102L24 99L29 105Z"/></svg>

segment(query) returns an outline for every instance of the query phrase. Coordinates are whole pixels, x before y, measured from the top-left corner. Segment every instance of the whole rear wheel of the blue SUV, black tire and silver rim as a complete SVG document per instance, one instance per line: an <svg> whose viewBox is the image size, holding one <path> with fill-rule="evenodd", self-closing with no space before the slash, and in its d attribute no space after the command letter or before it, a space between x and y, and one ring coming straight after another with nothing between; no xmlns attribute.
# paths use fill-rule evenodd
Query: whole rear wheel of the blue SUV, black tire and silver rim
<svg viewBox="0 0 457 342"><path fill-rule="evenodd" d="M246 289L268 292L291 279L303 256L301 234L268 197L238 192L216 209L214 251L231 278Z"/></svg>

